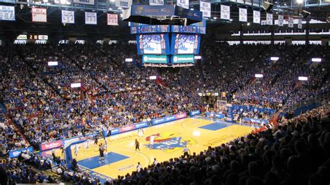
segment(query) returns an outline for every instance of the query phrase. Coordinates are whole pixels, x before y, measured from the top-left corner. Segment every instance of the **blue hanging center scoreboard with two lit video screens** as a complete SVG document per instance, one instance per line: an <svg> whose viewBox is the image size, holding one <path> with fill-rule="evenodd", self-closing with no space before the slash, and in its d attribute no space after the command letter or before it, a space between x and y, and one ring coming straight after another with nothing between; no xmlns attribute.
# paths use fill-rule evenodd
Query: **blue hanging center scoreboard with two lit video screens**
<svg viewBox="0 0 330 185"><path fill-rule="evenodd" d="M175 67L194 65L199 54L201 34L206 22L190 26L147 25L129 22L131 34L136 34L137 53L145 66ZM152 64L152 65L150 65Z"/></svg>

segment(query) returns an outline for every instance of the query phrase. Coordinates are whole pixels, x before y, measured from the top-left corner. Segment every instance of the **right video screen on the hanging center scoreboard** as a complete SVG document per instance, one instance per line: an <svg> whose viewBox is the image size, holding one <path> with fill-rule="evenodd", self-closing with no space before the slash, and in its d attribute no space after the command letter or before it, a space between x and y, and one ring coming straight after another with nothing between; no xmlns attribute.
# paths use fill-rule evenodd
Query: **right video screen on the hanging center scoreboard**
<svg viewBox="0 0 330 185"><path fill-rule="evenodd" d="M200 35L173 34L172 54L198 54Z"/></svg>

